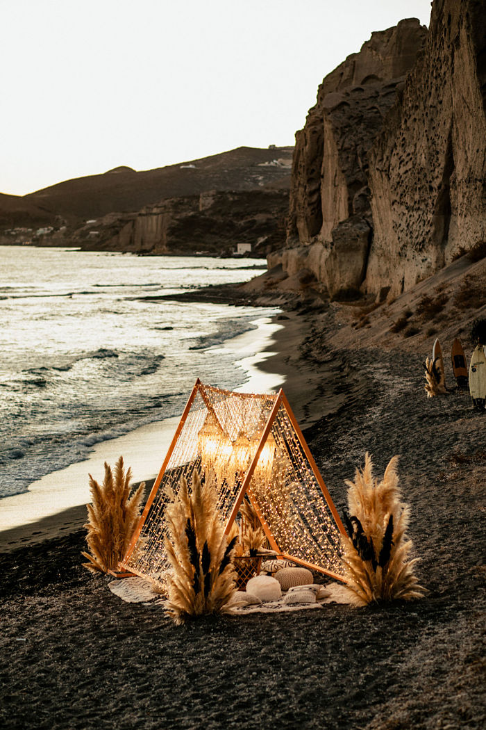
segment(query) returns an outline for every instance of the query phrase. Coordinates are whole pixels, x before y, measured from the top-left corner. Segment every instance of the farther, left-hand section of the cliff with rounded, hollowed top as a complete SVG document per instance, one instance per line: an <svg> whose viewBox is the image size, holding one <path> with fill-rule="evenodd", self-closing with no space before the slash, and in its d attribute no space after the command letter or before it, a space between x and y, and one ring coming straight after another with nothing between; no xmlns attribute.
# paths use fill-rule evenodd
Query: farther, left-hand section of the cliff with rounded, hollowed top
<svg viewBox="0 0 486 730"><path fill-rule="evenodd" d="M425 37L416 19L373 33L324 79L296 134L287 242L312 248L308 265L334 295L359 288L366 273L367 153Z"/></svg>

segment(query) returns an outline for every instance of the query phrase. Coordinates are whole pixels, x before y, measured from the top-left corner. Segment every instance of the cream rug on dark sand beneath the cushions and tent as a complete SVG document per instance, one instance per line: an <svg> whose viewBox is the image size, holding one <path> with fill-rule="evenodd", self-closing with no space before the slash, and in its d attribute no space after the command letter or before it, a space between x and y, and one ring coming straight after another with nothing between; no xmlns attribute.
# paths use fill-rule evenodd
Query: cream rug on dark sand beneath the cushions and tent
<svg viewBox="0 0 486 730"><path fill-rule="evenodd" d="M127 603L149 603L157 601L157 604L163 609L165 599L160 593L154 591L154 586L149 580L139 577L123 578L122 580L112 580L109 583L111 593L118 596ZM315 603L285 603L285 596L278 601L268 601L261 604L251 604L249 606L232 606L228 609L230 615L245 615L248 613L280 613L289 611L302 611L309 609L321 609L324 604L328 603L349 603L343 585L339 583L329 583L326 585L329 595L324 599L318 599Z"/></svg>

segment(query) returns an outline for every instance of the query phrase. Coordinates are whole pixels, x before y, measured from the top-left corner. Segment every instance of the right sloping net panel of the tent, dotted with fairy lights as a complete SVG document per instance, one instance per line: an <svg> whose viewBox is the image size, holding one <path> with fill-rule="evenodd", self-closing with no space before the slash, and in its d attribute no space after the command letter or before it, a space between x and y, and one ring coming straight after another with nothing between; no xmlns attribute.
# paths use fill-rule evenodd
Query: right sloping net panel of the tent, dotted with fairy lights
<svg viewBox="0 0 486 730"><path fill-rule="evenodd" d="M342 575L340 531L283 404L265 447L250 491L279 550Z"/></svg>

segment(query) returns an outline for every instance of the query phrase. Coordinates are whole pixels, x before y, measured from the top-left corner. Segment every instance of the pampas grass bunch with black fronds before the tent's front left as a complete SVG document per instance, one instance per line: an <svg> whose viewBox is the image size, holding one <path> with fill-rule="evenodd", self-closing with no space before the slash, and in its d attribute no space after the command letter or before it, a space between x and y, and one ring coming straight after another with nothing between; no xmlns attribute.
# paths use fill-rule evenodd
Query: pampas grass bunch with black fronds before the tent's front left
<svg viewBox="0 0 486 730"><path fill-rule="evenodd" d="M201 484L192 473L192 492L181 477L179 493L169 493L165 550L172 570L166 574L168 613L175 623L226 610L235 590L231 563L237 537L228 542L216 506L213 480Z"/></svg>

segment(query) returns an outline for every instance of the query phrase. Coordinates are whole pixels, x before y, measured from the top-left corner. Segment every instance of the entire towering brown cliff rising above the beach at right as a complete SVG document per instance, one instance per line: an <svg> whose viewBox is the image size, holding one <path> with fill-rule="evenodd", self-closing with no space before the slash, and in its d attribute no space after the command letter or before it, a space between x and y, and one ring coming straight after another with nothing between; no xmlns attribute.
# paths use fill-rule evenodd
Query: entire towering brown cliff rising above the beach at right
<svg viewBox="0 0 486 730"><path fill-rule="evenodd" d="M391 296L485 235L485 0L435 0L329 74L296 134L289 274Z"/></svg>

